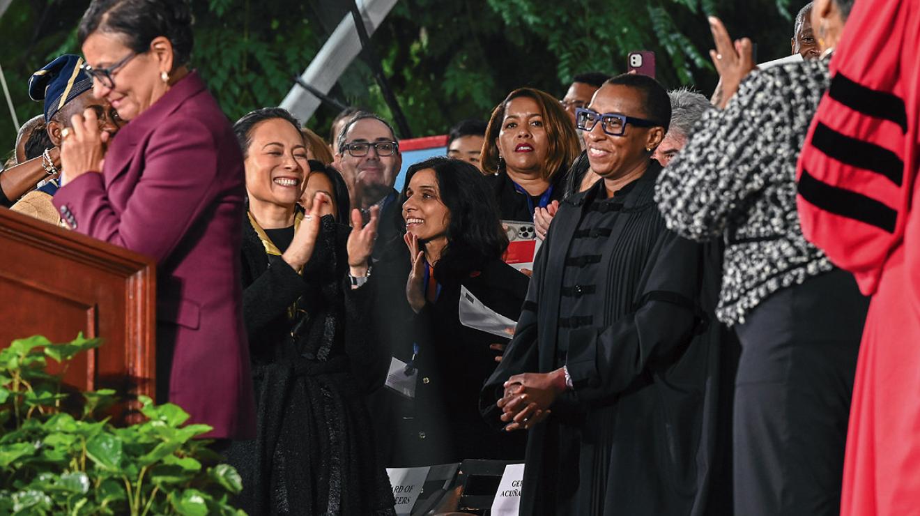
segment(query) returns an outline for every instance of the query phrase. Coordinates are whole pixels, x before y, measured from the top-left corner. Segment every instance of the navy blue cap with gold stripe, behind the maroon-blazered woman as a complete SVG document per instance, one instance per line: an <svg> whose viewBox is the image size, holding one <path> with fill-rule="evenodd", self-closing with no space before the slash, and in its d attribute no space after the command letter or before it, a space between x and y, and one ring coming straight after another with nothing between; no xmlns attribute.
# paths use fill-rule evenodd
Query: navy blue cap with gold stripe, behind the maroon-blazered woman
<svg viewBox="0 0 920 516"><path fill-rule="evenodd" d="M93 87L81 66L82 57L65 53L29 77L29 97L45 101L46 123L64 104Z"/></svg>

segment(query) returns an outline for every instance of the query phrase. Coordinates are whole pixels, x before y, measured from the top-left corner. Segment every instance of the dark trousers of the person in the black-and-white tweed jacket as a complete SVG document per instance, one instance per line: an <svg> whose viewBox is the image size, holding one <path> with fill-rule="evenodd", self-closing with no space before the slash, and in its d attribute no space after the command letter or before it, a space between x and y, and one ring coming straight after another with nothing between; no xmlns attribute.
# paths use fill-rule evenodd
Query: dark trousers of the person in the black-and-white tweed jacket
<svg viewBox="0 0 920 516"><path fill-rule="evenodd" d="M738 516L837 515L868 298L834 270L776 292L737 327Z"/></svg>

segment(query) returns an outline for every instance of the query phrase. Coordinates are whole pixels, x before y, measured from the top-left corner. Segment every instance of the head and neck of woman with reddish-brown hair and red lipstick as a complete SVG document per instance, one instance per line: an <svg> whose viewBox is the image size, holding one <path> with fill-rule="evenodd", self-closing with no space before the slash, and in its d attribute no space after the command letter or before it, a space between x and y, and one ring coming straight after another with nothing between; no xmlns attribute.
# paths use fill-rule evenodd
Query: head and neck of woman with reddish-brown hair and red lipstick
<svg viewBox="0 0 920 516"><path fill-rule="evenodd" d="M565 172L581 147L559 101L546 92L515 89L492 111L482 168L501 220L534 220L537 207L562 199Z"/></svg>

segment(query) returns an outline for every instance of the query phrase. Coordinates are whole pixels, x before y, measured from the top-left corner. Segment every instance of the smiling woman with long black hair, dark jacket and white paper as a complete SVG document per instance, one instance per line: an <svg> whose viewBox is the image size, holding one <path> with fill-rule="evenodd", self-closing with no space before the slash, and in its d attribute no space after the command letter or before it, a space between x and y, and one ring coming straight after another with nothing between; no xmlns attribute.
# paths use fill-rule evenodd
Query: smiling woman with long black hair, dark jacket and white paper
<svg viewBox="0 0 920 516"><path fill-rule="evenodd" d="M402 199L412 261L395 253L381 265L390 304L411 307L393 321L404 328L394 354L416 371L415 398L391 419L396 451L387 465L523 459L524 436L478 414L478 392L511 335L463 326L458 315L465 289L516 321L527 291L527 277L500 259L508 241L485 178L465 162L431 158L409 167Z"/></svg>

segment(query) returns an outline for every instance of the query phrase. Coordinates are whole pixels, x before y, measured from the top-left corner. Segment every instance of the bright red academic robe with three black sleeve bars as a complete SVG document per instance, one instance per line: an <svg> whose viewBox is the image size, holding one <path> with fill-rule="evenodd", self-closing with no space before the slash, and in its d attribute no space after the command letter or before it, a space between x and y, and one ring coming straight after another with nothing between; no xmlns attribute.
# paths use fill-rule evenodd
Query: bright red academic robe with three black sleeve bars
<svg viewBox="0 0 920 516"><path fill-rule="evenodd" d="M841 514L920 514L920 4L861 0L799 158L802 233L872 295Z"/></svg>

